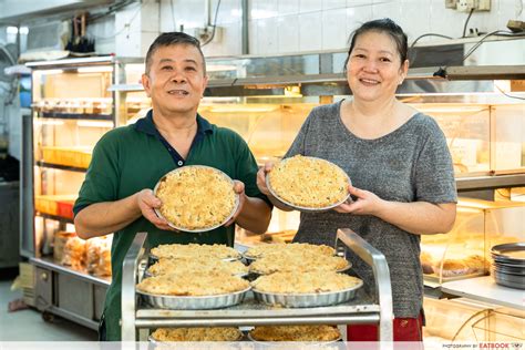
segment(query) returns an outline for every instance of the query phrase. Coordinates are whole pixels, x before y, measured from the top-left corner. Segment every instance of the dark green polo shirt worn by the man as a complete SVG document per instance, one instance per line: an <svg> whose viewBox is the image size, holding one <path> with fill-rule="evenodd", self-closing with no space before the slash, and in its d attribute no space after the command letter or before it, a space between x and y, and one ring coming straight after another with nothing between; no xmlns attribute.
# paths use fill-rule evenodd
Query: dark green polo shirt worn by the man
<svg viewBox="0 0 525 350"><path fill-rule="evenodd" d="M153 188L167 172L197 164L218 168L233 179L241 181L247 196L269 203L257 188L257 164L238 134L210 124L197 114L197 134L187 158L183 159L158 133L150 111L135 124L114 128L99 141L73 212L76 215L91 204L119 200L144 188ZM104 307L107 340L121 339L122 262L136 233L148 233L150 247L171 243L233 246L234 226L200 234L173 233L161 230L141 217L116 231L111 247L113 278Z"/></svg>

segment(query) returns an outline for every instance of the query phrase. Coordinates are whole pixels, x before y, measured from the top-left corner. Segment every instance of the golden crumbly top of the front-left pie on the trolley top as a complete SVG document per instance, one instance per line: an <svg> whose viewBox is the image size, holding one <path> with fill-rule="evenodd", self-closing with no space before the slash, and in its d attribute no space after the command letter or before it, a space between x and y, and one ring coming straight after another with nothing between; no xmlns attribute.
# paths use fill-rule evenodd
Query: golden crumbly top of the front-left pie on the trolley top
<svg viewBox="0 0 525 350"><path fill-rule="evenodd" d="M151 295L163 296L216 296L249 288L249 282L227 272L169 274L144 278L136 289Z"/></svg>

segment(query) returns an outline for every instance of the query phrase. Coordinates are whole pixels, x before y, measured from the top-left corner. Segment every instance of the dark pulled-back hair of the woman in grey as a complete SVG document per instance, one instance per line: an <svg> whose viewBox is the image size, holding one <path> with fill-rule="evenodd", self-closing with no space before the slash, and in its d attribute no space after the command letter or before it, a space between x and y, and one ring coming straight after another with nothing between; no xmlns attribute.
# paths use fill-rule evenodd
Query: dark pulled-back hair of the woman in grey
<svg viewBox="0 0 525 350"><path fill-rule="evenodd" d="M368 21L363 23L361 27L356 29L351 34L350 34L350 49L348 50L348 58L347 61L344 62L344 70L347 68L348 60L350 58L350 53L353 50L353 47L356 47L356 41L361 34L368 33L368 32L380 32L380 33L387 33L390 35L390 38L393 39L395 42L395 45L398 47L398 53L401 59L401 64L406 60L408 58L408 52L409 52L409 43L406 40L406 34L403 32L403 29L395 24L394 21L392 21L389 18L383 18L380 20L373 20L373 21Z"/></svg>

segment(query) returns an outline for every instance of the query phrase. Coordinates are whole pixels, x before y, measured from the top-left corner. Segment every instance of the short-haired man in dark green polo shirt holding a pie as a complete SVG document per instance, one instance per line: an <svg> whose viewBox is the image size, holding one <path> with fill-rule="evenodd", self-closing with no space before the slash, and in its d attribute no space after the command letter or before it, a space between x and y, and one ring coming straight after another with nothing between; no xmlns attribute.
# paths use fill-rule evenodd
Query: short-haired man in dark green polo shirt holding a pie
<svg viewBox="0 0 525 350"><path fill-rule="evenodd" d="M235 223L264 233L271 205L256 185L257 165L247 144L197 114L208 78L199 42L182 32L161 34L150 47L142 83L153 109L135 124L106 133L96 144L74 206L75 228L87 239L115 233L113 280L100 327L101 340L120 340L122 262L138 231L150 246L199 243L234 245ZM154 208L151 188L173 168L208 165L236 179L240 205L224 227L202 234L173 233ZM172 230L172 231L169 231Z"/></svg>

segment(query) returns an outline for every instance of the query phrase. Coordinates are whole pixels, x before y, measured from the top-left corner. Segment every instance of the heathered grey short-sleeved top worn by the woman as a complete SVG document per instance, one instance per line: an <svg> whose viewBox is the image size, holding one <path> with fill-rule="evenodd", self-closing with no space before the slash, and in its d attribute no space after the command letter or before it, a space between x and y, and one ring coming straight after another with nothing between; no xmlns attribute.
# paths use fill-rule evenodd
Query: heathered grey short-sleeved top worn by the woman
<svg viewBox="0 0 525 350"><path fill-rule="evenodd" d="M341 102L313 109L285 157L302 154L328 159L347 172L353 186L387 200L456 202L452 158L432 117L416 113L390 134L363 140L344 126L340 106ZM295 241L333 246L338 228L352 229L387 257L394 316L418 317L423 301L420 236L375 216L329 210L301 213ZM374 292L372 270L357 256L350 260Z"/></svg>

